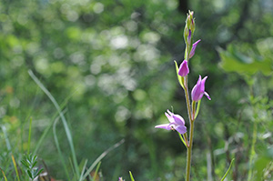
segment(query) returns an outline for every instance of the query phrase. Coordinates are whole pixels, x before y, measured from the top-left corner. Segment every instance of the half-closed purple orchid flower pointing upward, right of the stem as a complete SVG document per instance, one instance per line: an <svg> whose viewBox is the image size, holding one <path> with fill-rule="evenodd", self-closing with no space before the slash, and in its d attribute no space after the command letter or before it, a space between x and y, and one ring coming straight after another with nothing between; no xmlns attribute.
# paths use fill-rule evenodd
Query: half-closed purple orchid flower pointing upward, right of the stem
<svg viewBox="0 0 273 181"><path fill-rule="evenodd" d="M204 95L207 96L208 100L210 100L210 96L205 92L205 83L207 80L207 76L203 79L201 75L199 75L199 79L197 81L197 85L195 85L191 91L191 98L193 101L200 100Z"/></svg>

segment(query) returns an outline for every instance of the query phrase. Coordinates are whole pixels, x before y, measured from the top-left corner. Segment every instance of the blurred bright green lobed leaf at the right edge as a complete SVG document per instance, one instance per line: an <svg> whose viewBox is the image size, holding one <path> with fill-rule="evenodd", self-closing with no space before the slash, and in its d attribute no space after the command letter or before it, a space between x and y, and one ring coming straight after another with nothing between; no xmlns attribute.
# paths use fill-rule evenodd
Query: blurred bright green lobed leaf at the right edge
<svg viewBox="0 0 273 181"><path fill-rule="evenodd" d="M221 57L220 66L226 72L237 72L243 75L261 72L263 75L270 75L273 71L272 61L268 57L243 55L235 45L227 45L227 50L218 47L217 52Z"/></svg>

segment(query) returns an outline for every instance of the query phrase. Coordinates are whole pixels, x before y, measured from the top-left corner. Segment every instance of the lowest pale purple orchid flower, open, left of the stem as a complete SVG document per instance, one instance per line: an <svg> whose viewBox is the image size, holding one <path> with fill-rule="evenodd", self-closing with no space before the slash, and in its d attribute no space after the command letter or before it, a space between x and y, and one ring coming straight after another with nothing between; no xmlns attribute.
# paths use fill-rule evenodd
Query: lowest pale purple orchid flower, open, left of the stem
<svg viewBox="0 0 273 181"><path fill-rule="evenodd" d="M167 119L169 121L169 124L163 124L155 126L156 128L163 128L167 130L177 130L180 134L185 134L187 132L187 127L185 126L185 121L182 116L175 115L169 110L167 110L167 113L165 112L165 115L167 116Z"/></svg>

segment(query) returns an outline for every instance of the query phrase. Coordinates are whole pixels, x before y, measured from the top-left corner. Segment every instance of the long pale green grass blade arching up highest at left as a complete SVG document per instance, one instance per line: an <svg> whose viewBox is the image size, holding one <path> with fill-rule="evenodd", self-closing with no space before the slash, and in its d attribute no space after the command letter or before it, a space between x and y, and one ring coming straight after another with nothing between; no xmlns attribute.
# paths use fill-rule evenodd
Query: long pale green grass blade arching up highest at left
<svg viewBox="0 0 273 181"><path fill-rule="evenodd" d="M77 161L76 161L76 152L75 152L75 148L74 148L74 144L73 144L73 138L72 138L72 135L71 135L71 131L70 131L70 129L69 129L68 125L67 125L67 122L66 122L66 117L62 113L61 108L57 104L56 99L54 98L54 96L52 96L50 94L50 92L45 88L45 86L34 75L34 73L31 70L28 70L28 74L35 81L36 85L38 85L44 91L45 95L48 96L48 98L51 100L53 105L56 107L56 110L58 111L59 116L61 117L61 120L63 122L65 131L66 131L66 137L67 137L67 140L68 140L68 144L70 146L71 153L72 153L73 164L74 164L75 170L76 170L76 178L79 178L80 174L79 174L78 164L77 164Z"/></svg>

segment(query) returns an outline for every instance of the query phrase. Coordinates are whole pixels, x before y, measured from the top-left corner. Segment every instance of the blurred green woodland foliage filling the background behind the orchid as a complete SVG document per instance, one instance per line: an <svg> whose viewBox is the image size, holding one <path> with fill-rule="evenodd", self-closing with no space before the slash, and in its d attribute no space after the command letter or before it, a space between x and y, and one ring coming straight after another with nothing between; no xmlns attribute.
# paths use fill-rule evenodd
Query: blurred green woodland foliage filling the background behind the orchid
<svg viewBox="0 0 273 181"><path fill-rule="evenodd" d="M104 180L129 180L128 171L136 180L183 180L186 150L176 133L154 126L166 122L172 106L187 117L173 62L183 60L187 7L196 16L194 38L202 39L189 62L189 86L208 75L212 97L202 101L196 122L193 180L219 180L233 157L227 179L247 180L255 123L253 163L272 159L272 6L269 0L1 1L0 167L15 178L11 154L18 162L26 153L30 116L30 150L56 118L30 69L64 107L79 163L91 165L125 138L102 160ZM56 132L70 165L60 123ZM52 129L36 154L51 176L65 178Z"/></svg>

